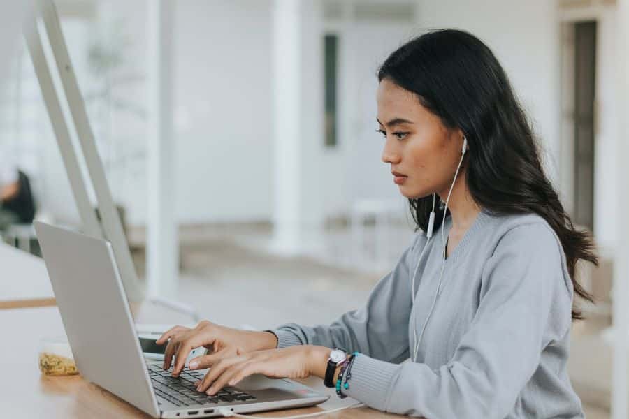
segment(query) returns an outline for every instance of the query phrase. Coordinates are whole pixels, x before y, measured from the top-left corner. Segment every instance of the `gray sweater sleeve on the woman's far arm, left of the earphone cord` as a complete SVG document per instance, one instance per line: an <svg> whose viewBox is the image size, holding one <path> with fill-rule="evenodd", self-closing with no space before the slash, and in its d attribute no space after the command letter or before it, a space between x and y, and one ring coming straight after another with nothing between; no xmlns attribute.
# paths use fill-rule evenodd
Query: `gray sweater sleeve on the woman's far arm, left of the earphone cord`
<svg viewBox="0 0 629 419"><path fill-rule="evenodd" d="M408 324L410 275L425 241L422 234L414 237L393 270L377 282L363 307L342 314L331 325L280 325L271 330L277 335L277 347L309 344L359 351L391 362L408 358L408 330L400 325Z"/></svg>

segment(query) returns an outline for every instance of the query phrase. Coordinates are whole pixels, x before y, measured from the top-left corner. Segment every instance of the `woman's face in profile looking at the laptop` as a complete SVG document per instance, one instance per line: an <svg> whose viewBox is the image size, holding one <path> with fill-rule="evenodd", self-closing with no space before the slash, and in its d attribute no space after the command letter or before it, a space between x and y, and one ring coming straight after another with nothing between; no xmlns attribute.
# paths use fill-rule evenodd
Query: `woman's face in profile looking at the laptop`
<svg viewBox="0 0 629 419"><path fill-rule="evenodd" d="M447 194L461 159L461 130L444 126L441 119L419 103L417 95L391 80L377 91L379 131L386 140L382 161L391 163L393 182L406 198ZM461 168L459 178L463 177ZM458 179L457 179L458 180Z"/></svg>

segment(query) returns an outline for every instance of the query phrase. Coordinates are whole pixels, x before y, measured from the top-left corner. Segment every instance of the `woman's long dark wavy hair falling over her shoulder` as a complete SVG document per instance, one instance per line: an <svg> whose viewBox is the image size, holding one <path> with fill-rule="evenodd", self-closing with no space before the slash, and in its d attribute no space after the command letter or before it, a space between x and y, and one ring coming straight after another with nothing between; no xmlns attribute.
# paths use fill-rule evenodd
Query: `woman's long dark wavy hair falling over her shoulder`
<svg viewBox="0 0 629 419"><path fill-rule="evenodd" d="M464 162L467 186L475 202L494 214L542 216L561 241L574 291L593 302L574 276L579 259L598 266L592 237L574 228L544 174L540 145L489 47L465 31L429 31L389 55L377 76L414 92L444 126L463 131L470 146ZM415 230L426 231L433 197L409 202ZM443 209L435 215L438 228ZM581 318L573 306L572 319Z"/></svg>

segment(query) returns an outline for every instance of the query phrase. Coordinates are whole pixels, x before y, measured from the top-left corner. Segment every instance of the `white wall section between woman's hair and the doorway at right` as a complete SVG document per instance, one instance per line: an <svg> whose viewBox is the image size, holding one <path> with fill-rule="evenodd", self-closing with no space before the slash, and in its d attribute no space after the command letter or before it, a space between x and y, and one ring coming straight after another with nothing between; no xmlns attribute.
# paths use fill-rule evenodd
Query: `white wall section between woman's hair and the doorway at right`
<svg viewBox="0 0 629 419"><path fill-rule="evenodd" d="M496 54L549 153L548 175L558 180L558 24L553 1L419 1L424 29L456 27Z"/></svg>

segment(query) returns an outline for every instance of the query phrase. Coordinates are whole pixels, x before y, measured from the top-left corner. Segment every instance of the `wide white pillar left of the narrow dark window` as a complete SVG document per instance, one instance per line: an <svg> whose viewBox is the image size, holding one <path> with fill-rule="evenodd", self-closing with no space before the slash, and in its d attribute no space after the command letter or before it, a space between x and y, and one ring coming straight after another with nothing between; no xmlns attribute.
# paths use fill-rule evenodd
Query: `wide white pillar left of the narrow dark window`
<svg viewBox="0 0 629 419"><path fill-rule="evenodd" d="M323 61L319 2L273 3L273 224L271 249L321 247Z"/></svg>

